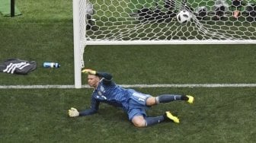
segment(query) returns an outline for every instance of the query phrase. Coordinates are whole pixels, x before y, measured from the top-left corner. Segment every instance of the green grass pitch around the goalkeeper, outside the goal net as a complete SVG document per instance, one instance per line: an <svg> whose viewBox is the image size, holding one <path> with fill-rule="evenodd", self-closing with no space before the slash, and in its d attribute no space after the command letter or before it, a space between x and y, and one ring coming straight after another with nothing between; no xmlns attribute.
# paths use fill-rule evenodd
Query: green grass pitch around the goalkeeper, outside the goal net
<svg viewBox="0 0 256 143"><path fill-rule="evenodd" d="M37 61L29 75L0 74L1 85L73 84L72 1L17 1L22 15L0 17L0 60ZM255 45L87 46L88 68L109 71L118 84L255 84ZM43 68L43 62L61 68ZM86 76L83 84L86 84ZM195 103L153 106L180 124L138 129L126 114L101 104L98 114L69 118L90 106L92 89L1 89L0 142L254 142L255 87L136 88L192 94Z"/></svg>

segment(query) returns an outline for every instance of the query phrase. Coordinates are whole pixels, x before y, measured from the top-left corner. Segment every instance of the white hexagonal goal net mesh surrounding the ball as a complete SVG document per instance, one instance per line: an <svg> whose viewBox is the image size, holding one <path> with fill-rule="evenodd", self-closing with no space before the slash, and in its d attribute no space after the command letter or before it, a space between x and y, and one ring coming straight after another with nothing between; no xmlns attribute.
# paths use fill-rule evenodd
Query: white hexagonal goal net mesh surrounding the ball
<svg viewBox="0 0 256 143"><path fill-rule="evenodd" d="M232 0L90 0L90 3L86 21L88 41L256 40L253 1L239 1L239 5ZM176 19L183 8L192 15L187 24Z"/></svg>

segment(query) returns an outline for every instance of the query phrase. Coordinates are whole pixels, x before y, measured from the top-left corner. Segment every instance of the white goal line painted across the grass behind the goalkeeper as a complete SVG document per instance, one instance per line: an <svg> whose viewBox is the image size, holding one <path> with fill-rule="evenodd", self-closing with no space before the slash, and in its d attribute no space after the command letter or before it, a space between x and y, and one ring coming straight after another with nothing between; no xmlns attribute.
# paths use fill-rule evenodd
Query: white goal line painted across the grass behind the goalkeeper
<svg viewBox="0 0 256 143"><path fill-rule="evenodd" d="M256 84L120 84L122 87L256 87ZM0 85L0 89L75 88L75 85ZM82 85L82 88L90 88Z"/></svg>

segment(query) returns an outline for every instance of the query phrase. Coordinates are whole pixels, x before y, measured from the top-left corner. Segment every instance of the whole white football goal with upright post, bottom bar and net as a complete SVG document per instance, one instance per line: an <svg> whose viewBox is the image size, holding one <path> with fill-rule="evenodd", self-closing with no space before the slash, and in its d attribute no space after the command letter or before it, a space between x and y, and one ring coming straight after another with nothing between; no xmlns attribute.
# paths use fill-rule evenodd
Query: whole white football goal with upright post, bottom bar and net
<svg viewBox="0 0 256 143"><path fill-rule="evenodd" d="M86 45L256 43L254 0L73 0L73 14L78 88Z"/></svg>

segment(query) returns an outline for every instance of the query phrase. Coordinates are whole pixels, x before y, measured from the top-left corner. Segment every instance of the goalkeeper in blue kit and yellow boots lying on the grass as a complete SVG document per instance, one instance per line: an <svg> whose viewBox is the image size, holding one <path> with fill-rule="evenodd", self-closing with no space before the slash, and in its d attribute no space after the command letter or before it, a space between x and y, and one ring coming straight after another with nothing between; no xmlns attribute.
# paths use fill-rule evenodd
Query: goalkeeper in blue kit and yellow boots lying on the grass
<svg viewBox="0 0 256 143"><path fill-rule="evenodd" d="M94 87L91 95L91 108L78 112L75 108L69 110L69 116L88 116L97 113L100 103L108 103L113 106L121 107L127 113L131 122L136 127L152 126L159 122L172 121L180 122L177 116L170 111L165 112L162 116L149 117L146 110L158 103L168 103L174 100L185 100L187 103L193 103L194 97L190 95L172 95L162 94L158 97L152 97L149 94L142 94L133 89L125 89L118 86L112 81L112 75L84 69L82 72L88 74L88 84Z"/></svg>

